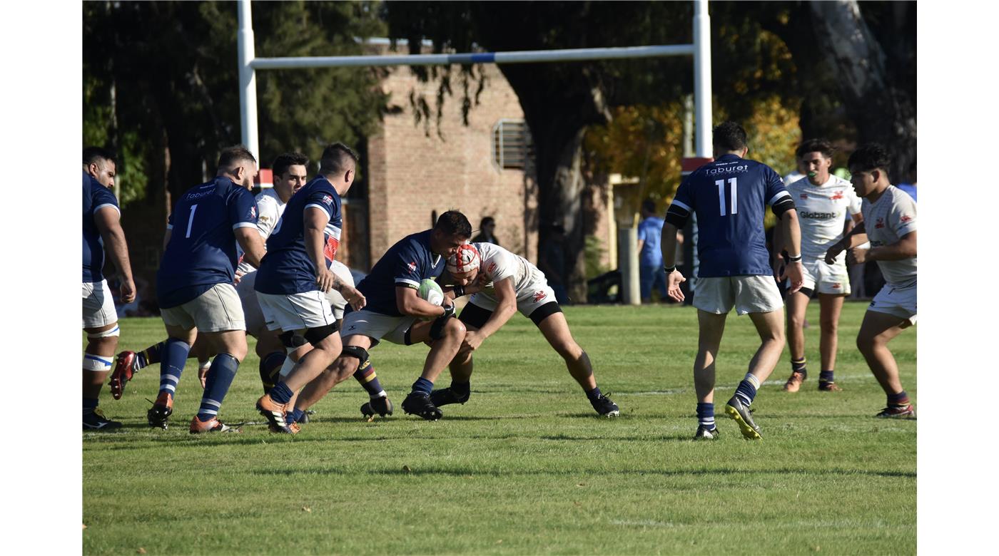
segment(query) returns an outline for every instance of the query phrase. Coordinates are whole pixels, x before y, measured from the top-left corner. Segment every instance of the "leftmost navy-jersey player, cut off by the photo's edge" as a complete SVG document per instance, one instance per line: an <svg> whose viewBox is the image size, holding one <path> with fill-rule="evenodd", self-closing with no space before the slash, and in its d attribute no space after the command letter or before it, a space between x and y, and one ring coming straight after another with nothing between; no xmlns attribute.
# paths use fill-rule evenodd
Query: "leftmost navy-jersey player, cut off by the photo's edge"
<svg viewBox="0 0 999 556"><path fill-rule="evenodd" d="M83 329L87 347L83 353L83 429L110 430L122 423L108 419L97 407L101 386L111 370L118 346L118 314L104 278L104 254L121 277L122 301L135 300L135 282L129 264L125 233L118 222L121 211L111 193L115 161L99 148L83 151Z"/></svg>

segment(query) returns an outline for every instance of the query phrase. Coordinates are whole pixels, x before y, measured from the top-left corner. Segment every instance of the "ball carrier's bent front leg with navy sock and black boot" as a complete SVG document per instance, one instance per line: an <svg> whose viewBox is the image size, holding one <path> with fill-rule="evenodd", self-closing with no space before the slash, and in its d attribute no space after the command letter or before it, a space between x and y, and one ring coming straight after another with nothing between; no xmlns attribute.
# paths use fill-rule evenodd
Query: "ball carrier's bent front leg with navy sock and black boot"
<svg viewBox="0 0 999 556"><path fill-rule="evenodd" d="M431 392L434 390L434 381L462 347L465 332L464 322L458 318L445 316L412 325L406 343L430 341L431 350L427 353L420 378L413 383L410 394L403 400L404 411L420 415L427 420L437 420L442 417L442 411L431 401Z"/></svg>

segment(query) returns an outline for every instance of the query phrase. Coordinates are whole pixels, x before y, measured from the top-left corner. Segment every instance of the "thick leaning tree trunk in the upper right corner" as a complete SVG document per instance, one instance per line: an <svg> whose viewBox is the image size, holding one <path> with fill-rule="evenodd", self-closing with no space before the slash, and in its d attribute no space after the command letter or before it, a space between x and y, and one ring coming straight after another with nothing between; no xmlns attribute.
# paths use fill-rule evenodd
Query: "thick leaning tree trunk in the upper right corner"
<svg viewBox="0 0 999 556"><path fill-rule="evenodd" d="M819 47L832 54L840 98L860 143L877 142L892 157L899 183L916 162L915 102L905 87L904 61L889 60L855 0L809 2Z"/></svg>

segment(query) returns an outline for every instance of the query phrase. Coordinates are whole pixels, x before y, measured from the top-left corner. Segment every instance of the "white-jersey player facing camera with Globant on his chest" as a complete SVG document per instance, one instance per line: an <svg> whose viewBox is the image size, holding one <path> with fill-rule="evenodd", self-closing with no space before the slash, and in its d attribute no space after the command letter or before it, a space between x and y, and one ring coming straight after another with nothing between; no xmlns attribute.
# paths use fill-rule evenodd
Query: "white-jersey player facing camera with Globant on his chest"
<svg viewBox="0 0 999 556"><path fill-rule="evenodd" d="M801 265L804 283L801 289L788 293L787 346L791 351L791 376L784 391L796 392L807 378L805 358L805 309L812 293L819 302L819 360L822 364L818 389L832 392L841 388L833 381L838 344L839 314L843 299L850 293L850 277L846 271L846 254L840 254L832 264L825 262L825 252L843 238L846 216L854 223L863 220L860 199L849 182L829 173L832 167L832 145L825 140L805 141L795 151L799 166L806 176L787 185L798 211L801 227ZM787 262L780 255L783 235L780 227L774 231L774 258L779 267Z"/></svg>

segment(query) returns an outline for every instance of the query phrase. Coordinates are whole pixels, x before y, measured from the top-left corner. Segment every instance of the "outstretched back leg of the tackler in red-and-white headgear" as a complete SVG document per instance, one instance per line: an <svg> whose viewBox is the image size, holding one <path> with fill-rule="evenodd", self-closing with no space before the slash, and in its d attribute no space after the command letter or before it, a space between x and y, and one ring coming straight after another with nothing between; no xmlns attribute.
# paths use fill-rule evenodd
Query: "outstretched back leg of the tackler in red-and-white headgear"
<svg viewBox="0 0 999 556"><path fill-rule="evenodd" d="M596 378L593 376L593 366L589 362L589 355L579 347L572 332L568 329L568 322L565 321L565 314L561 311L557 302L545 303L530 313L530 319L537 325L541 335L548 341L548 344L565 361L568 373L582 387L582 391L589 399L598 414L605 417L616 417L620 414L617 404L609 397L600 392L596 386Z"/></svg>

